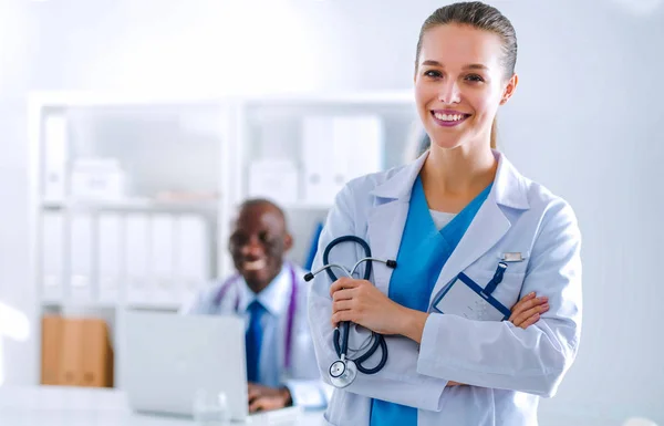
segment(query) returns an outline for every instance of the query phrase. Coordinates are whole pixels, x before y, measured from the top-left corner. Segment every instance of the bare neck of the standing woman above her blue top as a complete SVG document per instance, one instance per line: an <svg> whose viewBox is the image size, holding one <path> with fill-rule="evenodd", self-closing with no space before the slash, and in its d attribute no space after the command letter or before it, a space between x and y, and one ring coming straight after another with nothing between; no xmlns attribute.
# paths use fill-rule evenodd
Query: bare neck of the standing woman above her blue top
<svg viewBox="0 0 664 426"><path fill-rule="evenodd" d="M430 209L460 211L494 181L498 162L490 149L432 146L421 172Z"/></svg>

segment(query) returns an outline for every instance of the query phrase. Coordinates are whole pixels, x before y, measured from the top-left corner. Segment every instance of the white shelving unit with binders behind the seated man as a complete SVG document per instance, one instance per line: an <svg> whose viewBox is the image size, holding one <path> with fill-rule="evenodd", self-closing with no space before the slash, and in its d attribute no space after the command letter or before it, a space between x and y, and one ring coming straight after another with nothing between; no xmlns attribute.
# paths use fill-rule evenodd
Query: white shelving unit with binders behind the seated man
<svg viewBox="0 0 664 426"><path fill-rule="evenodd" d="M203 112L203 113L201 113ZM56 196L64 194L64 200L53 201L44 197L45 191L43 183L44 164L48 162L46 138L44 135L44 118L50 114L59 115L65 120L66 125L72 124L75 128L73 134L68 134L68 144L71 149L66 149L66 167L71 167L73 158L83 156L98 155L100 157L117 157L118 163L129 177L132 184L128 194L137 196L122 200L84 200L72 197L66 198L68 185L62 186ZM164 115L159 115L164 114ZM86 222L73 224L75 214L92 214L90 221L93 226L98 225L94 218L96 214L105 211L127 214L137 212L149 220L156 219L152 212L167 214L196 214L203 217L208 225L206 231L209 231L211 239L211 266L209 279L215 277L225 277L232 272L232 261L227 250L227 241L230 236L230 227L236 212L236 207L248 197L248 165L253 158L269 158L273 150L266 148L266 156L258 155L258 149L262 147L274 147L269 142L262 139L261 135L268 135L267 138L277 135L283 131L286 149L295 149L291 153L298 153L297 135L299 125L303 116L308 114L375 114L384 120L386 132L392 145L385 148L385 165L395 163L395 158L401 158L397 153L402 148L401 144L407 143L407 137L403 137L409 132L412 118L416 116L414 108L414 96L412 91L398 92L353 92L353 93L281 93L281 94L200 94L200 93L92 93L92 92L39 92L29 95L29 136L30 136L30 158L31 158L31 281L37 289L38 299L35 304L37 314L32 318L33 328L39 333L40 316L46 312L53 311L92 311L100 313L102 318L113 323L113 340L115 344L115 385L123 387L122 377L124 375L124 362L126 362L126 347L124 336L126 335L125 313L131 310L156 310L176 312L186 300L178 300L178 297L188 298L188 290L179 289L177 294L159 294L159 298L151 298L151 293L145 295L129 294L131 282L123 282L122 289L118 289L117 295L113 299L101 299L106 301L75 299L79 293L68 291L68 283L71 282L72 260L70 258L69 245L71 230L87 229ZM144 122L145 127L142 126ZM129 123L126 127L123 127ZM408 124L407 126L405 124ZM270 128L270 125L277 125L277 129ZM166 125L167 127L164 127ZM169 127L168 127L169 126ZM408 129L405 129L408 127ZM73 127L72 127L73 128ZM72 129L68 127L68 131ZM71 139L70 139L71 138ZM264 142L264 146L262 143ZM187 145L191 143L190 145ZM123 145L124 144L124 145ZM187 152L191 146L193 150ZM268 152L269 150L269 152ZM185 157L186 155L186 157ZM195 155L191 157L191 155ZM395 158L388 158L388 156ZM210 162L208 162L208 159ZM125 162L126 163L123 163ZM298 164L295 160L294 164ZM126 168L124 167L126 165ZM64 167L64 166L63 166ZM70 170L65 170L64 175ZM199 194L217 195L212 198L173 200L160 198L148 198L157 194ZM328 198L321 198L328 199ZM289 252L292 259L304 261L309 253L311 232L320 224L326 211L331 208L329 202L286 202L281 207L292 214L292 221L289 224L294 238L294 246ZM61 214L61 215L60 215ZM145 215L147 214L147 215ZM80 215L85 216L85 215ZM103 215L98 215L100 217ZM114 216L114 215L106 215ZM169 216L169 215L163 215ZM64 231L62 237L65 241L60 246L62 252L61 270L53 272L44 271L42 264L42 242L44 227L42 219L53 217L61 219ZM147 220L147 219L146 219ZM80 228L74 227L77 225ZM133 222L137 226L136 222ZM120 229L126 229L125 221L118 225ZM151 222L155 226L155 222ZM71 229L70 229L71 228ZM84 229L84 230L85 230ZM115 229L115 228L113 228ZM135 229L135 228L132 228ZM141 228L142 229L142 228ZM148 238L153 237L153 229L149 228ZM295 235L299 231L299 235ZM69 233L68 233L69 232ZM113 232L98 232L94 228L91 232L92 243L90 250L83 253L92 252L98 247L95 246L100 237L108 236ZM131 243L124 245L127 236L144 233L122 233L118 238L120 247L125 250L139 246L132 238ZM208 235L206 233L206 236ZM50 237L58 237L54 235ZM175 237L174 237L175 238ZM151 240L148 253L151 250L158 251L162 247ZM156 248L156 250L155 250ZM129 268L125 251L118 258L121 259L123 271L117 277L129 277L123 273ZM163 254L163 253L162 253ZM147 256L147 259L152 254ZM108 258L105 258L108 259ZM138 258L129 258L138 259ZM147 260L149 262L152 260ZM83 271L90 277L98 274L98 259L91 261L91 270ZM144 277L146 282L153 282L156 277L153 274L176 273L170 268L158 270L157 267L168 266L168 262L147 263L148 274L143 276L144 271L136 273L135 277ZM50 267L49 267L50 268ZM45 281L45 274L58 277L56 282L62 284L61 292L51 292L46 294L42 287ZM79 271L81 272L81 271ZM113 276L115 277L115 276ZM196 276L199 277L199 276ZM163 277L158 277L163 278ZM97 283L91 279L89 294L92 297L101 295L101 291L94 291ZM135 289L135 288L134 288ZM96 289L100 290L100 289ZM62 298L58 298L62 295ZM45 299L49 297L55 299ZM135 299L136 298L136 299ZM142 302L138 302L142 300ZM144 300L144 301L143 301ZM157 302L163 300L164 302ZM39 353L40 339L37 339L35 351ZM37 356L40 360L40 356ZM40 368L39 364L34 366Z"/></svg>

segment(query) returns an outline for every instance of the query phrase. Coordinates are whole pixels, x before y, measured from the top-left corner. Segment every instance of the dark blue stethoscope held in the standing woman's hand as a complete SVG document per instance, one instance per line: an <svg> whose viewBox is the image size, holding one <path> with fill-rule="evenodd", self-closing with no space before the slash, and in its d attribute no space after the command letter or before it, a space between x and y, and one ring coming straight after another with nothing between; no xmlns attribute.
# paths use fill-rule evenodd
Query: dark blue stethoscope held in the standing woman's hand
<svg viewBox="0 0 664 426"><path fill-rule="evenodd" d="M357 262L355 262L355 264L353 266L353 268L350 271L346 270L341 264L329 262L330 251L332 250L332 248L334 246L336 246L341 242L345 242L345 241L356 242L360 246L362 246L362 248L364 249L364 254L366 256L365 258L357 260ZM304 276L304 280L311 281L313 279L313 277L317 276L319 272L326 271L328 276L330 277L332 282L334 282L338 280L338 278L334 274L334 272L332 272L332 270L331 270L332 268L339 268L347 277L353 278L353 273L355 273L355 270L357 269L357 267L363 262L369 262L369 264L364 269L364 277L363 277L364 280L369 281L369 279L371 278L371 268L372 268L371 261L377 261L381 263L385 263L388 268L392 268L392 269L396 268L396 260L390 260L390 259L382 260L382 259L372 258L371 257L371 248L369 247L366 241L364 241L362 238L355 237L355 236L339 237L339 238L332 240L328 245L328 247L325 247L325 251L323 252L323 267L321 269L319 269L318 271L309 272L307 276ZM334 361L330 365L330 371L329 371L330 382L332 383L332 385L334 385L335 387L339 387L339 388L346 387L351 383L353 383L353 381L357 376L357 372L364 373L364 374L375 374L375 373L380 372L381 370L383 370L383 367L385 366L385 363L387 362L387 344L385 343L385 337L383 337L383 335L375 333L375 332L371 333L371 336L373 340L373 344L371 345L371 347L363 355L361 355L354 360L350 360L347 357L350 322L344 321L341 324L341 326L343 328L343 340L341 341L341 343L339 342L340 334L341 334L339 326L336 326L336 329L334 329L334 337L333 337L334 350L336 351L336 355L339 356L339 360ZM362 363L364 361L369 360L377 351L378 346L381 346L381 349L382 349L381 362L378 363L378 365L376 365L373 368L364 367L362 365Z"/></svg>

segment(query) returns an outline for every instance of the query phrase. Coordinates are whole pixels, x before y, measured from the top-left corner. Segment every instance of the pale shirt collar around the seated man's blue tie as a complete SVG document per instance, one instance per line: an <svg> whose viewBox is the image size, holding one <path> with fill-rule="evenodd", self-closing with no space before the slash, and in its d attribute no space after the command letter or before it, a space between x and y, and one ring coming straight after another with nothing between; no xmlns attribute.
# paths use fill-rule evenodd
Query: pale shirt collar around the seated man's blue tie
<svg viewBox="0 0 664 426"><path fill-rule="evenodd" d="M247 308L256 299L262 304L272 315L280 316L288 310L291 277L290 267L286 262L281 266L281 271L260 293L256 294L243 278L240 277L240 300L238 312L246 312Z"/></svg>

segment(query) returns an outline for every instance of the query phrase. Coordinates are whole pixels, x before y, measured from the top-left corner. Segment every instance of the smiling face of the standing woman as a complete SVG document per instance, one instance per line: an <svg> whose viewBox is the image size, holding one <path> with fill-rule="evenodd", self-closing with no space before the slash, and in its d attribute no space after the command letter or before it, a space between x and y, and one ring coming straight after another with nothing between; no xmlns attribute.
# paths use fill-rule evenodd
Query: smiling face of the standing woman
<svg viewBox="0 0 664 426"><path fill-rule="evenodd" d="M415 74L417 111L432 145L455 148L488 141L498 106L517 76L507 76L496 33L445 24L423 35Z"/></svg>

